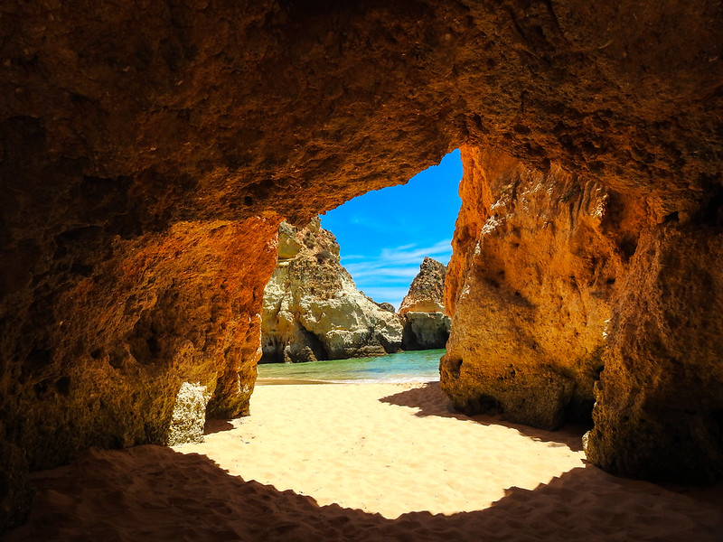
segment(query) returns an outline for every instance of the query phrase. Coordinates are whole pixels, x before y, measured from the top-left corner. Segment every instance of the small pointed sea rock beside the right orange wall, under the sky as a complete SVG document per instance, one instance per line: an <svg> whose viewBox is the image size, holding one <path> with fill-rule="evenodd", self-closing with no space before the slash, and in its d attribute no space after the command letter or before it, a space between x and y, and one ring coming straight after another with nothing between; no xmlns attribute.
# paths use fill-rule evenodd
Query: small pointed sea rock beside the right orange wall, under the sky
<svg viewBox="0 0 723 542"><path fill-rule="evenodd" d="M446 266L425 257L399 306L404 350L445 348L451 322L445 313Z"/></svg>

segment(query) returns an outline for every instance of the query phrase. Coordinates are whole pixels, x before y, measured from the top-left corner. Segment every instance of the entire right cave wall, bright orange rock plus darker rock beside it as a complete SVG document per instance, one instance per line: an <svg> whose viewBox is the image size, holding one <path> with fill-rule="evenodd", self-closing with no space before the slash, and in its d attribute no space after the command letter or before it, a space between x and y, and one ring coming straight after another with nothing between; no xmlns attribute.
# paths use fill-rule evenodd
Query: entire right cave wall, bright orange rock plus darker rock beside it
<svg viewBox="0 0 723 542"><path fill-rule="evenodd" d="M440 365L455 406L547 428L592 411L587 454L606 470L719 478L721 200L671 211L554 165L462 155Z"/></svg>

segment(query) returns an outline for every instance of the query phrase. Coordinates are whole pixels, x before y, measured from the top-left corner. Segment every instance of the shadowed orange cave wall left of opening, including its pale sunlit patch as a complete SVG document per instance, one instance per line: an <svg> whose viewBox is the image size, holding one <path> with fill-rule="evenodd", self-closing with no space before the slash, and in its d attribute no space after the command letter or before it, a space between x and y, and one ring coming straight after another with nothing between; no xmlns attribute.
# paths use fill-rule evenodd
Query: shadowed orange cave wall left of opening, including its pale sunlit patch
<svg viewBox="0 0 723 542"><path fill-rule="evenodd" d="M32 279L36 296L15 290L24 309L0 316L5 355L25 360L5 358L0 379L6 524L22 513L14 493L26 494L14 467L49 468L93 445L194 440L207 406L212 416L248 413L276 229L217 220L108 247L99 227L56 239Z"/></svg>

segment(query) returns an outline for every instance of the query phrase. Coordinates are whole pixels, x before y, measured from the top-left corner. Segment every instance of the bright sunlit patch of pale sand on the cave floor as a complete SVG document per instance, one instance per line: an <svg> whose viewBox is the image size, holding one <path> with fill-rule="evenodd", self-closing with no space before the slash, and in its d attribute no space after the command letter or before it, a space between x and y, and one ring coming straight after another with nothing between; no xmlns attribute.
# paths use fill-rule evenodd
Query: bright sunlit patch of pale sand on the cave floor
<svg viewBox="0 0 723 542"><path fill-rule="evenodd" d="M569 435L523 435L456 416L437 384L422 387L258 387L251 416L174 450L203 453L230 474L320 505L389 519L485 509L509 488L533 490L583 465L579 446L564 444Z"/></svg>

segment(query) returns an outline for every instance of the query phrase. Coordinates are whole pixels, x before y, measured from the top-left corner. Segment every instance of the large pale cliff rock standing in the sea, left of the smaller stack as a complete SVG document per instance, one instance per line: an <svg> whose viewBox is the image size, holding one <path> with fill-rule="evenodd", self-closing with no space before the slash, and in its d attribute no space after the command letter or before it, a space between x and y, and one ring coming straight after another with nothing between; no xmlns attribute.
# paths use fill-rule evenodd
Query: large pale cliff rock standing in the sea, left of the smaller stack
<svg viewBox="0 0 723 542"><path fill-rule="evenodd" d="M264 291L262 362L342 360L401 350L394 313L356 289L339 245L318 218L282 222L278 263Z"/></svg>

